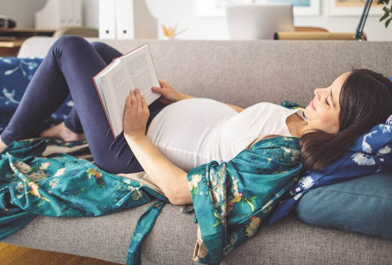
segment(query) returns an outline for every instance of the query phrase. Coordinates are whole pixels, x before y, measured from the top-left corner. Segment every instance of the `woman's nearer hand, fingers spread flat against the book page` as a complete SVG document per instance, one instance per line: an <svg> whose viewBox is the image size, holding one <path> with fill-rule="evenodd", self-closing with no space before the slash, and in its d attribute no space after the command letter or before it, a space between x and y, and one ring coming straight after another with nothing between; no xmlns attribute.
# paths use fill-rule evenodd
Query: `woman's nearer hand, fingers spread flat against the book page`
<svg viewBox="0 0 392 265"><path fill-rule="evenodd" d="M144 136L149 116L149 106L140 95L140 90L136 88L135 91L130 91L125 105L124 136L129 138Z"/></svg>

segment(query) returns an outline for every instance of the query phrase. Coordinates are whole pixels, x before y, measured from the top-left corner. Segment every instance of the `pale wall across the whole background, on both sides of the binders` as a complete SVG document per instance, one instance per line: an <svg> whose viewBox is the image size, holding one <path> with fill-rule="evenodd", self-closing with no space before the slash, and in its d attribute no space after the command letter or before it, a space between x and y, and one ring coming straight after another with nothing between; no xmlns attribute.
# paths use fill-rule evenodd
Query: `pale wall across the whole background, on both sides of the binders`
<svg viewBox="0 0 392 265"><path fill-rule="evenodd" d="M295 17L297 26L319 26L330 32L355 32L360 16L328 16L328 3L332 0L321 0L321 15ZM34 28L34 12L40 10L46 0L0 0L0 15L16 19L18 28ZM178 39L229 39L227 21L224 17L197 17L195 0L146 0L151 13L159 20L159 24L187 29L178 35ZM83 0L84 25L98 28L98 0ZM385 29L379 22L380 16L367 18L364 32L370 41L392 41L392 24ZM159 37L163 37L158 30Z"/></svg>

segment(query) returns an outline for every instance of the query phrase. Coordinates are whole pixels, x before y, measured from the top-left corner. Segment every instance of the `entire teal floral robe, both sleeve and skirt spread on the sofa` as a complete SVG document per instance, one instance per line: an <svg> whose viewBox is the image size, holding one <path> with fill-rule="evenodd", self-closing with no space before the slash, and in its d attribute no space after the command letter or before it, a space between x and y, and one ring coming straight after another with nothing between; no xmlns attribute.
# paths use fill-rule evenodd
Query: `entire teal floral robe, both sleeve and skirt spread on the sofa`
<svg viewBox="0 0 392 265"><path fill-rule="evenodd" d="M13 142L0 157L0 240L36 215L101 216L144 203L128 249L127 264L140 264L140 245L167 198L137 181L107 173L68 154L40 155L43 139ZM253 236L301 171L297 138L255 143L233 160L211 162L188 174L195 220L208 249L200 262L222 255ZM191 253L189 253L191 255Z"/></svg>

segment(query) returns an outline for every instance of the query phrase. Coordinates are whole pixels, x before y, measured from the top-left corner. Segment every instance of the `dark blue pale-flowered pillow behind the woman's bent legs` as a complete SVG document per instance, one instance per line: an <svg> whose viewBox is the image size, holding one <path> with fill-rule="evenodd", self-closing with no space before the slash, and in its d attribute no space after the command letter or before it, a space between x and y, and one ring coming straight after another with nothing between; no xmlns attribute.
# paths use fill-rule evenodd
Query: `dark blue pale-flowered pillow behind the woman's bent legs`
<svg viewBox="0 0 392 265"><path fill-rule="evenodd" d="M42 60L41 58L0 57L0 134L15 112ZM74 102L68 96L60 109L42 124L42 129L63 121L73 105Z"/></svg>

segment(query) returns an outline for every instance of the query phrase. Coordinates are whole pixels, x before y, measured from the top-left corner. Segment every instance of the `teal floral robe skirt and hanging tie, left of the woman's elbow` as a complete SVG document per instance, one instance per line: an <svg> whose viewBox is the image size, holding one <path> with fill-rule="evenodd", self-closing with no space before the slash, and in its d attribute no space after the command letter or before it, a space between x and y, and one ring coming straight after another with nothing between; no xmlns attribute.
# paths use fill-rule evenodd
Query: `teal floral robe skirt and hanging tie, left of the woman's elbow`
<svg viewBox="0 0 392 265"><path fill-rule="evenodd" d="M141 241L167 198L87 160L61 153L41 157L45 147L43 139L15 141L1 153L0 240L37 215L93 217L154 201L139 219L129 248L127 264L139 264Z"/></svg>

